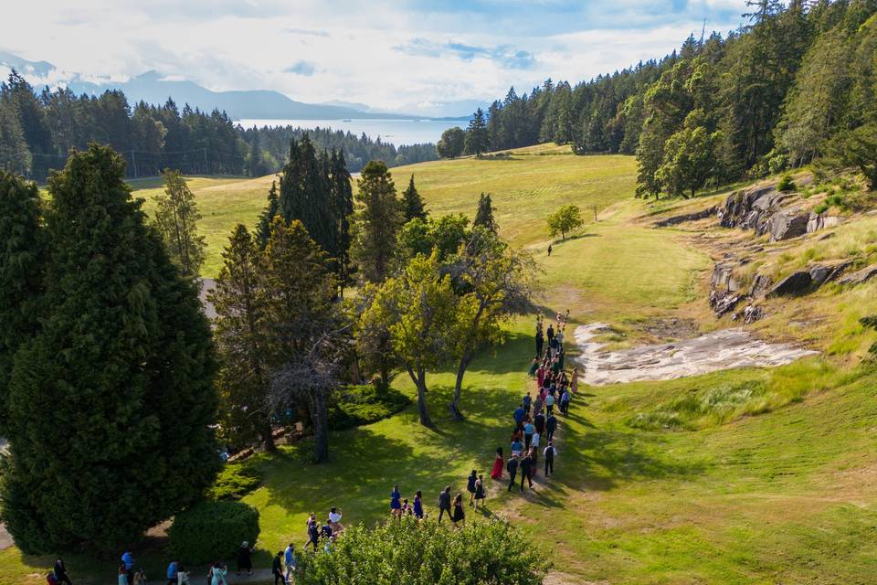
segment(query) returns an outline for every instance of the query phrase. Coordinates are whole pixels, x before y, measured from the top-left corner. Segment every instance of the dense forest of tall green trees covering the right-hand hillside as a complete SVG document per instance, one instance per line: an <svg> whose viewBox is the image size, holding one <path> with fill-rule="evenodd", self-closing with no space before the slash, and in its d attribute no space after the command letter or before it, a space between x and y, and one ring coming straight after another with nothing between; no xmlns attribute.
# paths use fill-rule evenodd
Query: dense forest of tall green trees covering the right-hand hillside
<svg viewBox="0 0 877 585"><path fill-rule="evenodd" d="M692 35L664 58L575 87L512 88L467 131L446 132L439 154L546 142L636 154L640 197L687 197L816 160L856 167L877 186L877 2L747 5L746 26Z"/></svg>

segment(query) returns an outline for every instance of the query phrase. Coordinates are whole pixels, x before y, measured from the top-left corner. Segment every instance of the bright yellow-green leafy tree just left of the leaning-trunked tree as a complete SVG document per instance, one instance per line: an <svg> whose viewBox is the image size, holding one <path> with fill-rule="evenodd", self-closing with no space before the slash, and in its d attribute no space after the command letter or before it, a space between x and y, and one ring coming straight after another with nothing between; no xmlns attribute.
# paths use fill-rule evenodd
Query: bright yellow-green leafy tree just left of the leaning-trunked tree
<svg viewBox="0 0 877 585"><path fill-rule="evenodd" d="M386 327L396 357L417 388L420 424L432 426L427 408L427 372L453 356L457 298L450 276L440 271L438 252L418 255L390 278L362 314L365 327Z"/></svg>

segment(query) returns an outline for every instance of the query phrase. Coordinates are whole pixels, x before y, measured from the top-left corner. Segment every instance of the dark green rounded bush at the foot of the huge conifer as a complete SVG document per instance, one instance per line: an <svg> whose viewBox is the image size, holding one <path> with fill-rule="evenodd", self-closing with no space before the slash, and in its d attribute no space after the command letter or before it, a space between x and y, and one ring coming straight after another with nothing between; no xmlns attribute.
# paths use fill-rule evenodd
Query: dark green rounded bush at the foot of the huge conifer
<svg viewBox="0 0 877 585"><path fill-rule="evenodd" d="M246 540L259 538L259 511L242 502L205 501L174 518L168 552L185 564L233 558Z"/></svg>

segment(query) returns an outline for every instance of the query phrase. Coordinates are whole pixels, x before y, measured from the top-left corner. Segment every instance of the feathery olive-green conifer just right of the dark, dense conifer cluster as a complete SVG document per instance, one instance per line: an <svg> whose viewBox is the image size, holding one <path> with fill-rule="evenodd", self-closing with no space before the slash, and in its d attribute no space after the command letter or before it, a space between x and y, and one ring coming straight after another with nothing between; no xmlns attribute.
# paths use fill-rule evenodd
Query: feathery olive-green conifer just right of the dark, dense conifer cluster
<svg viewBox="0 0 877 585"><path fill-rule="evenodd" d="M357 186L351 257L365 282L383 282L392 267L396 234L403 222L396 186L380 161L365 165Z"/></svg>

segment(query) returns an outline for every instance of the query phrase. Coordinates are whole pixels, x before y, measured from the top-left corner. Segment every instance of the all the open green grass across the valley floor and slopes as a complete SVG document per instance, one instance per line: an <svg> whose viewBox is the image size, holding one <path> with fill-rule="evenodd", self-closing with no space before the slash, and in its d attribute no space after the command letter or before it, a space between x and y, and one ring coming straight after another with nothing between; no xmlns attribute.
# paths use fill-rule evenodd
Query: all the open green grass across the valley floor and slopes
<svg viewBox="0 0 877 585"><path fill-rule="evenodd" d="M478 194L491 192L503 234L531 249L544 270L544 312L569 309L571 328L603 321L630 343L648 338L645 325L659 319L701 330L739 326L716 322L706 306L710 252L725 236L707 245L694 229L648 224L655 211L708 201L633 200L630 158L541 147L511 160L441 161L393 173L397 186L415 173L435 215L471 215ZM269 178L196 178L191 185L211 245L210 274L231 225L258 215ZM137 195L149 193L143 187ZM549 258L544 215L562 203L597 207L599 221L555 242ZM768 309L756 331L802 340L823 356L776 369L582 386L569 418L560 420L555 475L544 482L540 471L525 495L488 479L484 516L522 527L554 561L555 585L877 583L877 374L860 366L874 335L856 322L877 312L877 282L772 301ZM334 432L328 464L307 463L306 443L261 463L264 484L245 497L261 514L261 566L290 540L304 543L312 511L323 516L338 505L345 523L374 523L388 517L397 483L404 497L422 490L434 515L444 485L464 490L473 468L489 475L495 448L507 448L512 410L533 386L525 376L532 333L533 320L519 319L509 324L507 343L473 362L463 422L447 414L453 372L438 372L428 378L435 429L420 427L411 407ZM394 386L414 394L404 375ZM679 424L666 424L671 419ZM154 574L163 569L157 549L143 558ZM94 562L69 558L74 582L108 582L113 559L98 563L100 577ZM0 552L0 583L40 582L44 568L48 558Z"/></svg>

